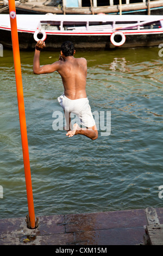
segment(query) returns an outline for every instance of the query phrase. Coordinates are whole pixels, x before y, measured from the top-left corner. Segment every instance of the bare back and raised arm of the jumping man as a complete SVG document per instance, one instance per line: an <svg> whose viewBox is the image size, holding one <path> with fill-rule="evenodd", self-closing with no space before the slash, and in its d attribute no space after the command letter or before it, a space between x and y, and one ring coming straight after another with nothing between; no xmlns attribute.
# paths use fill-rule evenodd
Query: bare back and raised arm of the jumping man
<svg viewBox="0 0 163 256"><path fill-rule="evenodd" d="M44 46L41 40L38 45ZM62 83L64 85L65 95L71 100L80 99L86 97L86 75L87 75L87 62L85 58L74 58L73 56L65 57L62 53L58 62L54 62L51 65L45 65L42 67L37 66L36 61L40 56L40 51L35 53L34 58L34 73L35 74L48 74L54 71L58 71Z"/></svg>

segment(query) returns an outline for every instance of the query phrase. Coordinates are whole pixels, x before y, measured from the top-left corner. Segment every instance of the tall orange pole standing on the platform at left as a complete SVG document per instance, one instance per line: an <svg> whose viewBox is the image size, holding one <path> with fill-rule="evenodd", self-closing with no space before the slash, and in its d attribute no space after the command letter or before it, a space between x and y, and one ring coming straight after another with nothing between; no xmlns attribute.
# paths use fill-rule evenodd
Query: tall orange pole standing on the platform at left
<svg viewBox="0 0 163 256"><path fill-rule="evenodd" d="M22 84L22 74L21 74L20 50L19 50L19 44L18 44L15 0L9 0L9 13L10 13L10 23L11 23L12 51L13 51L14 66L15 66L18 112L19 112L19 119L20 119L21 139L22 139L24 172L25 172L25 178L26 178L29 221L30 221L30 227L35 228L35 213L34 213L34 203L33 203L32 180L31 180L31 174L30 174L27 126L26 126L26 115L25 115L25 108L24 108L23 84Z"/></svg>

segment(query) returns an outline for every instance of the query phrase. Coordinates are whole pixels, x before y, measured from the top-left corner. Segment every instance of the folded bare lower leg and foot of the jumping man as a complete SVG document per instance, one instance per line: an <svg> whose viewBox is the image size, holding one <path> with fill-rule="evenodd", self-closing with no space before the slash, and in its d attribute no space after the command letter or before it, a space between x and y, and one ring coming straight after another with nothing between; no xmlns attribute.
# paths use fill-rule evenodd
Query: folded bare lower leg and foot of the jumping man
<svg viewBox="0 0 163 256"><path fill-rule="evenodd" d="M74 124L73 130L68 131L66 133L66 136L72 137L72 136L78 135L78 134L84 135L92 140L98 138L98 131L97 131L96 125L89 127L89 128L80 128L78 124Z"/></svg>

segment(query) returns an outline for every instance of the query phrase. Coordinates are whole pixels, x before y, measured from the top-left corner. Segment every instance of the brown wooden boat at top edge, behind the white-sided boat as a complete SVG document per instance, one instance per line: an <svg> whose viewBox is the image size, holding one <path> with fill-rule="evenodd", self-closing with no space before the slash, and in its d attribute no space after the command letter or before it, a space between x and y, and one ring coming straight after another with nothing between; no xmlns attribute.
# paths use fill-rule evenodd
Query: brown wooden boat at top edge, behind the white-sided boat
<svg viewBox="0 0 163 256"><path fill-rule="evenodd" d="M72 0L19 0L16 1L16 11L20 14L135 14L163 15L163 0L73 0L76 5L67 4ZM58 4L61 3L61 4ZM92 4L91 4L92 3ZM107 5L105 5L107 3Z"/></svg>

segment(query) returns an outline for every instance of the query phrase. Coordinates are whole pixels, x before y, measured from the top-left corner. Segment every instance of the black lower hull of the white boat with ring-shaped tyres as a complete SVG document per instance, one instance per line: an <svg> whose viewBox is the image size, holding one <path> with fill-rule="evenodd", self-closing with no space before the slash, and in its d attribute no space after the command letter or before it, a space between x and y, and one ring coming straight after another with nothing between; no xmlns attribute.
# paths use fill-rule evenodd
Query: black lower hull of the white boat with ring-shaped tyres
<svg viewBox="0 0 163 256"><path fill-rule="evenodd" d="M36 45L34 34L18 32L20 50L33 51ZM47 51L60 51L60 45L64 41L72 41L76 50L110 50L113 48L151 47L163 43L163 33L158 34L134 34L127 35L126 41L121 46L115 46L110 41L110 35L49 35L45 40ZM1 30L1 44L11 48L11 32Z"/></svg>

